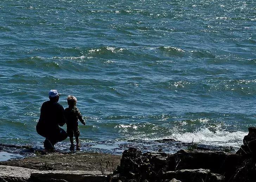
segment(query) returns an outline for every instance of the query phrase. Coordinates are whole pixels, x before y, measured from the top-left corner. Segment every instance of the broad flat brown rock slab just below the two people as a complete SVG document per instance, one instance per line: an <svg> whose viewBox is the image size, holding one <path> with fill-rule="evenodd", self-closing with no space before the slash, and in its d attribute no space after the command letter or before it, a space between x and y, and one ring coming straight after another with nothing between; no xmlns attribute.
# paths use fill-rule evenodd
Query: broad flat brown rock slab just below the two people
<svg viewBox="0 0 256 182"><path fill-rule="evenodd" d="M120 155L103 153L49 153L0 162L0 165L37 170L81 170L113 172L120 165Z"/></svg>

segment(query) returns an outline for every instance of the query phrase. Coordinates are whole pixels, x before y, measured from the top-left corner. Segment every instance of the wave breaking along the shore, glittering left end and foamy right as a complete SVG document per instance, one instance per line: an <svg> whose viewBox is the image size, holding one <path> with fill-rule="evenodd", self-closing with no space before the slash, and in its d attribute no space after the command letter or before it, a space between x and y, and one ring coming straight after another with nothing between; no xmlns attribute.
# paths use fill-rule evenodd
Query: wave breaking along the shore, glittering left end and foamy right
<svg viewBox="0 0 256 182"><path fill-rule="evenodd" d="M202 122L207 122L207 120L202 120ZM151 128L147 128L151 126ZM144 129L142 129L144 127ZM147 129L146 129L146 128ZM248 132L235 131L229 132L225 130L217 129L215 131L209 130L209 128L199 128L194 132L184 132L178 128L172 129L172 132L163 130L159 125L145 123L143 125L138 124L121 124L115 126L118 133L125 134L122 140L162 140L162 139L174 139L182 142L196 142L206 145L215 146L226 146L226 145L237 145L241 144L242 140ZM164 132L164 134L162 133Z"/></svg>

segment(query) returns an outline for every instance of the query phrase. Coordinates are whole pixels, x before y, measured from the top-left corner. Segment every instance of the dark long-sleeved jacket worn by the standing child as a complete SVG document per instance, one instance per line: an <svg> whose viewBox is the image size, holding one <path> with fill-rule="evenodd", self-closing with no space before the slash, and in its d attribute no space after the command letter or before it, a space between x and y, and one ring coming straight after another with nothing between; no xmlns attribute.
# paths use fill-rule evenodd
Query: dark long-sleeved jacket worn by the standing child
<svg viewBox="0 0 256 182"><path fill-rule="evenodd" d="M67 127L75 127L78 126L78 120L85 125L84 119L82 118L82 114L79 112L76 106L67 107L65 109L65 118Z"/></svg>

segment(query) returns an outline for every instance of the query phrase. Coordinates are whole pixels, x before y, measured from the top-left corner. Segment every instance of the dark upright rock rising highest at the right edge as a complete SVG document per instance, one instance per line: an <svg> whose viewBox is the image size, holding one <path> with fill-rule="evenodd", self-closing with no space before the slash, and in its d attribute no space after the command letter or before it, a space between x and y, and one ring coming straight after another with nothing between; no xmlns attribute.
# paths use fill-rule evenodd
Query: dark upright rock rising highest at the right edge
<svg viewBox="0 0 256 182"><path fill-rule="evenodd" d="M248 128L248 135L243 139L243 144L236 152L239 155L243 155L247 158L255 158L256 155L256 127Z"/></svg>

